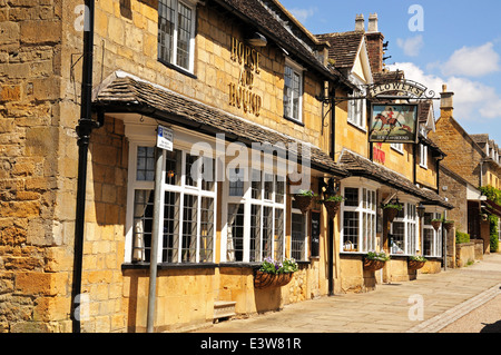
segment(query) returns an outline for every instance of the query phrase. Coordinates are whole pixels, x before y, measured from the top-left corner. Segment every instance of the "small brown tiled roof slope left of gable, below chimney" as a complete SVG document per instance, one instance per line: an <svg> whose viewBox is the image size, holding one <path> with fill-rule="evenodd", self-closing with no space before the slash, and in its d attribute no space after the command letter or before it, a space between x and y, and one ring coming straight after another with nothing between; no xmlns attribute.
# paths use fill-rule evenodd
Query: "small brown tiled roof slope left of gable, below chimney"
<svg viewBox="0 0 501 355"><path fill-rule="evenodd" d="M325 40L331 45L328 57L334 59L334 67L338 69L353 68L358 52L360 45L364 38L362 31L350 31L342 33L316 34L320 40Z"/></svg>

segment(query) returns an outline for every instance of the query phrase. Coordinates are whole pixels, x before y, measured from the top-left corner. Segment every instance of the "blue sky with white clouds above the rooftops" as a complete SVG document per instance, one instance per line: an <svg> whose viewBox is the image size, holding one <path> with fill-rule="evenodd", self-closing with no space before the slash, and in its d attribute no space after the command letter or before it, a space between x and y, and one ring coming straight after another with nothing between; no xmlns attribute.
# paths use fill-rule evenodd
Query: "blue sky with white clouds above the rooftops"
<svg viewBox="0 0 501 355"><path fill-rule="evenodd" d="M390 42L386 65L436 96L448 85L454 92L454 118L469 134L489 134L501 147L501 1L281 2L315 34L352 31L357 13L367 22L376 12L379 30Z"/></svg>

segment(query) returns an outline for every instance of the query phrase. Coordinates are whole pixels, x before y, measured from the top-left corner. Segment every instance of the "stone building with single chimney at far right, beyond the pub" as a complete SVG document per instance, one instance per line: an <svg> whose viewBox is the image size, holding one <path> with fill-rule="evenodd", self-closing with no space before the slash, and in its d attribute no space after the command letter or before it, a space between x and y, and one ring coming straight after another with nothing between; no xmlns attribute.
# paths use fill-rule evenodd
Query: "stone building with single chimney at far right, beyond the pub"
<svg viewBox="0 0 501 355"><path fill-rule="evenodd" d="M499 184L497 146L489 142L488 135L469 135L454 119L454 93L446 86L442 91L436 130L430 134L446 154L441 167L441 194L455 206L450 218L456 229L468 233L472 239L483 239L484 253L489 253L489 221L482 218L485 196L479 188Z"/></svg>

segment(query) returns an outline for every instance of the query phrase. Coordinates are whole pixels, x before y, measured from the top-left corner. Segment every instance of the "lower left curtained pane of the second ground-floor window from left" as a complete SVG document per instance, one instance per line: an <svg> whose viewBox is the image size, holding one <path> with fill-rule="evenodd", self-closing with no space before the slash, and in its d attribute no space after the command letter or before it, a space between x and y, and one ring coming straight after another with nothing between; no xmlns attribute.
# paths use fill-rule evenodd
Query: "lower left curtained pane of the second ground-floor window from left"
<svg viewBox="0 0 501 355"><path fill-rule="evenodd" d="M228 204L228 236L226 258L228 262L244 260L244 205Z"/></svg>

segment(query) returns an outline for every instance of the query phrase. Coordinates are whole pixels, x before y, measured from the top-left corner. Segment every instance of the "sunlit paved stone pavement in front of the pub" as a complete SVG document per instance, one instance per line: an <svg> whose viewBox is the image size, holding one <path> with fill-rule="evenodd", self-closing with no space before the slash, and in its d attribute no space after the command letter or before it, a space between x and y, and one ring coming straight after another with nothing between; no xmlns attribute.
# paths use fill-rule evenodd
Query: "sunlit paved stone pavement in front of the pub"
<svg viewBox="0 0 501 355"><path fill-rule="evenodd" d="M285 305L278 312L229 319L194 333L481 333L501 332L501 254L473 265L419 274L411 282L377 285Z"/></svg>

